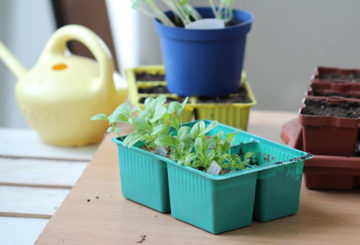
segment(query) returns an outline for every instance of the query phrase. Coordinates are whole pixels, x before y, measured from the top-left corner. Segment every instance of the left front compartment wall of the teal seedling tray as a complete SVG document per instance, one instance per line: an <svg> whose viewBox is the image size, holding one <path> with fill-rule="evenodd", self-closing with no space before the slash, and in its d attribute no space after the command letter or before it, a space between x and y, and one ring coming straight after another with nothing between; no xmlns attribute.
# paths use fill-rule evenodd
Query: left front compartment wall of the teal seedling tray
<svg viewBox="0 0 360 245"><path fill-rule="evenodd" d="M118 146L122 194L126 199L140 203L161 213L170 212L166 162L139 148L128 148L122 138L113 138Z"/></svg>

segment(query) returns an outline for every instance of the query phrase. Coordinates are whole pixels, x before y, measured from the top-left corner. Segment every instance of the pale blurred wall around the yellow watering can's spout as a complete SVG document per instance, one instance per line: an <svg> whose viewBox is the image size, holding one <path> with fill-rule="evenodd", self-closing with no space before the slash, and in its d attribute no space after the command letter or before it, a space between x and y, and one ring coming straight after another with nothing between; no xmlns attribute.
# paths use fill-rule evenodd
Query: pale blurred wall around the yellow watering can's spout
<svg viewBox="0 0 360 245"><path fill-rule="evenodd" d="M55 30L48 0L0 0L0 40L30 69ZM0 127L27 127L16 105L16 78L0 61Z"/></svg>

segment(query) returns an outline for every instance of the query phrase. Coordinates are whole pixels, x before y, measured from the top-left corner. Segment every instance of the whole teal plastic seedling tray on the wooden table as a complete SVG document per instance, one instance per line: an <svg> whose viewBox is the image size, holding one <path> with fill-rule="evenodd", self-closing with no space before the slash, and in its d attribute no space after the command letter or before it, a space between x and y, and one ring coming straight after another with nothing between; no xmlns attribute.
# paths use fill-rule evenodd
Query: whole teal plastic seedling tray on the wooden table
<svg viewBox="0 0 360 245"><path fill-rule="evenodd" d="M183 125L192 127L196 122ZM219 124L208 135L223 131L226 137L236 130ZM240 131L232 152L254 152L258 164L210 175L180 166L140 145L124 147L122 138L113 141L119 150L124 197L160 212L169 212L171 206L172 216L211 233L248 226L253 219L277 219L298 210L304 161L309 158L305 152Z"/></svg>

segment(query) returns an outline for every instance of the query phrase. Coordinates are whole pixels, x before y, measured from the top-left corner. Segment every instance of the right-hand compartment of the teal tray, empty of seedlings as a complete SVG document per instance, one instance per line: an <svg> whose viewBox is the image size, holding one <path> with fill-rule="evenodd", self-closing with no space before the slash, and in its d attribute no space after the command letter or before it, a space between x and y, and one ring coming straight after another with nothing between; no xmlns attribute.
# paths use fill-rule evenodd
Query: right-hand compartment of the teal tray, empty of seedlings
<svg viewBox="0 0 360 245"><path fill-rule="evenodd" d="M251 166L258 170L254 219L266 222L295 214L299 209L304 162L311 156L243 131L235 135L234 145L238 152L257 154L259 165Z"/></svg>

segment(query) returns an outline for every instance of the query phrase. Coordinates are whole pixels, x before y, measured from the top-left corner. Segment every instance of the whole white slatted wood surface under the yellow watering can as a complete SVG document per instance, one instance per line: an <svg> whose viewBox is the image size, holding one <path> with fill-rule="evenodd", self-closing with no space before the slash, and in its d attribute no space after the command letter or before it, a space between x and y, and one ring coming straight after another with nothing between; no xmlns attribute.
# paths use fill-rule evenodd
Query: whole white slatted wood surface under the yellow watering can
<svg viewBox="0 0 360 245"><path fill-rule="evenodd" d="M0 245L36 241L96 148L51 146L32 130L0 128Z"/></svg>

